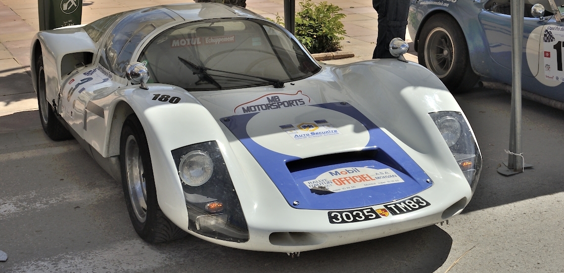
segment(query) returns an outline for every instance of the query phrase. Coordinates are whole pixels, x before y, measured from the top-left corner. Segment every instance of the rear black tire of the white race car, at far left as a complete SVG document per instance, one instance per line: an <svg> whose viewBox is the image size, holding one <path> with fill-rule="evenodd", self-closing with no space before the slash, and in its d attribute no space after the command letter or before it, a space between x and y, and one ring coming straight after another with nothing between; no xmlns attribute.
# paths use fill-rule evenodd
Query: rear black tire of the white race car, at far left
<svg viewBox="0 0 564 273"><path fill-rule="evenodd" d="M45 69L43 68L43 56L39 55L36 64L37 69L37 105L39 107L39 120L45 134L52 140L71 139L72 135L55 116L55 110L46 99Z"/></svg>

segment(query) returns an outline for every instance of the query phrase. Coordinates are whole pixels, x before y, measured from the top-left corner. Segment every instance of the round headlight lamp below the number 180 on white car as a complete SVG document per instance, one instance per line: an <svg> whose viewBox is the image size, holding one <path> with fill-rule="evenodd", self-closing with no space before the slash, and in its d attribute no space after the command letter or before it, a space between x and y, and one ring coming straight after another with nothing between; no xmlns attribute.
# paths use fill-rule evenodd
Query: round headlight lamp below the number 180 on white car
<svg viewBox="0 0 564 273"><path fill-rule="evenodd" d="M196 187L206 182L213 172L213 162L208 153L192 151L180 157L178 174L188 186Z"/></svg>

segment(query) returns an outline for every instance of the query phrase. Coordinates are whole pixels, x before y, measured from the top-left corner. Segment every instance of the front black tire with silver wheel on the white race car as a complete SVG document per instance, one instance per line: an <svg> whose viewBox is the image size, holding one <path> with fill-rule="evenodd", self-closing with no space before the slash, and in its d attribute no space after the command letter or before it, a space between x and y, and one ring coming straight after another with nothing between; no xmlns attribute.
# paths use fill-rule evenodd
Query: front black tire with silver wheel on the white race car
<svg viewBox="0 0 564 273"><path fill-rule="evenodd" d="M147 137L135 115L127 117L121 129L120 165L125 202L137 234L148 243L186 236L158 206Z"/></svg>

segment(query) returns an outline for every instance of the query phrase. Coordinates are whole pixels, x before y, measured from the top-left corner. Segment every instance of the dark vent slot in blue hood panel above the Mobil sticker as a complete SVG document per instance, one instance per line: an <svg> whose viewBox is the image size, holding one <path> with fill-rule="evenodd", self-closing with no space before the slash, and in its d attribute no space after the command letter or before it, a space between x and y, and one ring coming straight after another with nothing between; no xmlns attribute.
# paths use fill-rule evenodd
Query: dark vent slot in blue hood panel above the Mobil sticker
<svg viewBox="0 0 564 273"><path fill-rule="evenodd" d="M364 160L378 161L377 155L377 149L369 149L358 152L332 153L330 155L321 155L288 161L286 162L286 166L288 167L290 173L295 173L296 171L309 170L313 168L343 164L347 162Z"/></svg>

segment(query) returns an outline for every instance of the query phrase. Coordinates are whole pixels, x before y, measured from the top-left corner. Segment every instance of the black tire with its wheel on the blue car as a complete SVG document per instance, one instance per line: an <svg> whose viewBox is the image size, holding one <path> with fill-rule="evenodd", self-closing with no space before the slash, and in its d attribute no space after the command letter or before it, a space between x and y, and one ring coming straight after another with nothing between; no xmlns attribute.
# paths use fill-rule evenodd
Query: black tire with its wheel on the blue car
<svg viewBox="0 0 564 273"><path fill-rule="evenodd" d="M466 38L451 16L431 17L421 29L417 48L419 64L435 73L451 93L474 87L480 77L470 65Z"/></svg>

